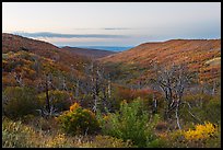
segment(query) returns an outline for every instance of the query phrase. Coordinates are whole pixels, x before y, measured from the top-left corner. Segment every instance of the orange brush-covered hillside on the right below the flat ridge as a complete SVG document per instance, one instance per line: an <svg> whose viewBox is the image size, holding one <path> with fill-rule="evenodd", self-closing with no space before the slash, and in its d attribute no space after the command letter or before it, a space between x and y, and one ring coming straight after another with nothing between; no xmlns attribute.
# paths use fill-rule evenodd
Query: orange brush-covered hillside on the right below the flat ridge
<svg viewBox="0 0 223 150"><path fill-rule="evenodd" d="M132 66L130 69L141 68L144 71L144 76L151 73L148 69L154 62L161 65L184 62L188 64L191 70L199 72L200 80L212 80L220 78L221 39L172 39L159 43L144 43L99 60L109 66L125 65ZM131 73L131 71L128 70L128 73Z"/></svg>

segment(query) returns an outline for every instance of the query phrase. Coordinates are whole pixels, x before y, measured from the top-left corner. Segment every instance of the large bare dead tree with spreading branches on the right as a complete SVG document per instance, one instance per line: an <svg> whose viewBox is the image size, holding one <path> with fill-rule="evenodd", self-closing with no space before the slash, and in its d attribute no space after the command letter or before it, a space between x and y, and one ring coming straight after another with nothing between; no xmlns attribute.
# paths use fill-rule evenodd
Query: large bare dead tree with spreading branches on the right
<svg viewBox="0 0 223 150"><path fill-rule="evenodd" d="M185 88L187 88L192 79L186 65L173 65L169 68L155 65L155 79L152 79L165 95L167 103L165 119L171 118L171 114L175 111L176 123L179 129L179 107L181 104Z"/></svg>

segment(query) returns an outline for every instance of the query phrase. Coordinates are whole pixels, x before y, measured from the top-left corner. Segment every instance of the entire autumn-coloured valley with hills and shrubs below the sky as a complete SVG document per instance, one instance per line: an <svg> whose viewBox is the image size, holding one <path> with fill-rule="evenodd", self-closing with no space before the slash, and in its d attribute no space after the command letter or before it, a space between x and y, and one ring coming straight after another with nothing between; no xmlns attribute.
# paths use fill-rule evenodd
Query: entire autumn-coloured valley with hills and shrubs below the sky
<svg viewBox="0 0 223 150"><path fill-rule="evenodd" d="M117 53L2 33L2 131L40 137L25 147L220 147L220 95L221 39Z"/></svg>

